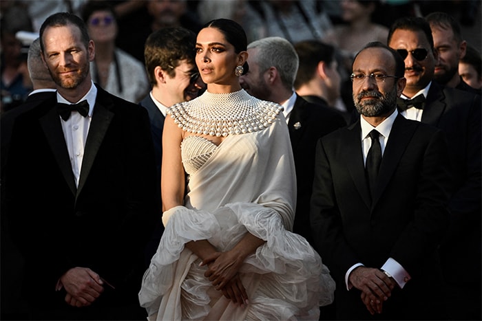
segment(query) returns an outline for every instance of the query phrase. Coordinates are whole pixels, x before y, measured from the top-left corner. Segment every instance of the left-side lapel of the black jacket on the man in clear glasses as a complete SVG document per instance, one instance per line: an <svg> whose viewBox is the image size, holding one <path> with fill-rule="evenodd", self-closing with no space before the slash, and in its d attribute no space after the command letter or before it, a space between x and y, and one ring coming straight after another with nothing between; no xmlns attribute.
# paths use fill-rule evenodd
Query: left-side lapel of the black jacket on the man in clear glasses
<svg viewBox="0 0 482 321"><path fill-rule="evenodd" d="M362 195L366 207L370 208L371 199L368 192L368 182L366 181L365 176L361 133L362 127L360 126L360 122L357 121L355 124L348 127L348 132L346 134L348 137L346 137L346 140L342 143L346 144L346 148L344 148L344 151L346 151L344 159L346 159L346 166L353 178L353 183L357 187L360 195Z"/></svg>

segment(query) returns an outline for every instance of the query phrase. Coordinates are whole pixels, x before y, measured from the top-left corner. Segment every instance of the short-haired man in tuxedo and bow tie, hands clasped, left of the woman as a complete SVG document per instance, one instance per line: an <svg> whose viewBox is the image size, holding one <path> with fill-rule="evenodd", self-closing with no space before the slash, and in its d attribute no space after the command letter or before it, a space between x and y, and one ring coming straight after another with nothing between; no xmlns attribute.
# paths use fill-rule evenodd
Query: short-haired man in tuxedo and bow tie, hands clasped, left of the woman
<svg viewBox="0 0 482 321"><path fill-rule="evenodd" d="M6 173L30 318L143 319L143 251L158 215L147 112L94 85L94 42L78 16L52 14L40 40L57 93L17 118Z"/></svg>

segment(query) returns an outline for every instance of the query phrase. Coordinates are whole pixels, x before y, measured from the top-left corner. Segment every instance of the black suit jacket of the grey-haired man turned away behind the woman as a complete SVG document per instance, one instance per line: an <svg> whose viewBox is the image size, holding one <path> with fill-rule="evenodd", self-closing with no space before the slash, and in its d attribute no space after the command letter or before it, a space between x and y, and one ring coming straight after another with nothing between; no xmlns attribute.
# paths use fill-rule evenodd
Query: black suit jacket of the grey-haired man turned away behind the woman
<svg viewBox="0 0 482 321"><path fill-rule="evenodd" d="M342 115L329 107L307 102L297 96L288 128L295 158L297 202L293 232L311 242L310 198L313 186L317 140L339 127L346 126Z"/></svg>

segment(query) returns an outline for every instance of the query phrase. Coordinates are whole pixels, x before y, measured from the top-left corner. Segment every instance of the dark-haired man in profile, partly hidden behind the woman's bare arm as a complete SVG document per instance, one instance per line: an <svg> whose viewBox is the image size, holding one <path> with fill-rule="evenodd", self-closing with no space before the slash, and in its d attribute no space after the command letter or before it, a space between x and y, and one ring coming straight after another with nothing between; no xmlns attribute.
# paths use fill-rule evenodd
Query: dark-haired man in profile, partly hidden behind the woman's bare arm
<svg viewBox="0 0 482 321"><path fill-rule="evenodd" d="M205 84L196 67L196 34L184 27L163 27L149 35L145 43L144 60L151 91L139 102L147 109L156 154L158 194L160 168L163 161L163 128L167 108L178 102L198 97ZM156 253L164 226L162 214L146 253L147 266Z"/></svg>

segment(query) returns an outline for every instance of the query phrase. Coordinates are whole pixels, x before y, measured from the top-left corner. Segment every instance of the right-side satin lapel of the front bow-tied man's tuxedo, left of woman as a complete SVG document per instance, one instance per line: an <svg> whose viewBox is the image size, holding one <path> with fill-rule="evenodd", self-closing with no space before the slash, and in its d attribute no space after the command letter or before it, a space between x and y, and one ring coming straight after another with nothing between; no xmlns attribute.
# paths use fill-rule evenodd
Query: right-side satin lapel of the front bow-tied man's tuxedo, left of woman
<svg viewBox="0 0 482 321"><path fill-rule="evenodd" d="M94 113L92 115L92 122L90 123L89 133L87 134L87 142L85 142L85 151L82 161L81 176L78 179L78 189L77 195L80 194L85 180L89 176L92 164L94 164L94 159L96 158L98 148L101 146L105 133L109 129L109 124L114 117L114 113L109 111L107 108L96 102Z"/></svg>

